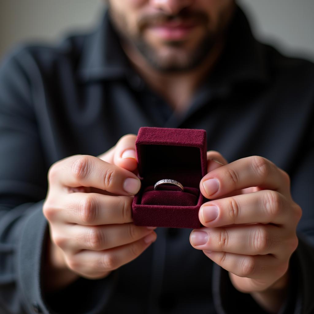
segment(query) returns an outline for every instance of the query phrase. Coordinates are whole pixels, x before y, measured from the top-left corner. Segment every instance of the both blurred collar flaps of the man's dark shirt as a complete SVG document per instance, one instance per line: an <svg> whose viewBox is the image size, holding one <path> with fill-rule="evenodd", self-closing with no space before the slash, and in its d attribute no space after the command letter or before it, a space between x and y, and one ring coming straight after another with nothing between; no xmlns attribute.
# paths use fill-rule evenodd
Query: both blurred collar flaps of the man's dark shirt
<svg viewBox="0 0 314 314"><path fill-rule="evenodd" d="M78 75L84 82L126 77L132 72L120 45L108 10L96 30L84 42ZM252 35L248 20L237 7L227 34L225 49L206 80L211 86L230 86L268 79L265 46Z"/></svg>

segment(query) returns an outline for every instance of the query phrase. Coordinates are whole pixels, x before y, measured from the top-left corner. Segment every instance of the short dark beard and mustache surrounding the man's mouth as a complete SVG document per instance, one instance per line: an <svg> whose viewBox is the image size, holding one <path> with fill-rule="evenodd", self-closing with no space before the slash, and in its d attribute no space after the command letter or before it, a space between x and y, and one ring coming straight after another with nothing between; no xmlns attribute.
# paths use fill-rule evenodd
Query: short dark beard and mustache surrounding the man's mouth
<svg viewBox="0 0 314 314"><path fill-rule="evenodd" d="M187 72L197 68L208 57L213 47L225 30L226 14L221 13L219 25L215 31L209 27L209 17L202 11L182 9L176 15L156 13L142 16L137 20L137 31L128 31L127 18L123 14L113 12L109 5L109 15L122 41L135 48L155 70L162 73ZM144 37L145 30L154 23L168 22L173 19L189 20L195 22L203 30L203 36L199 38L192 48L187 47L186 41L165 41L163 47L156 48ZM165 48L165 49L163 49Z"/></svg>

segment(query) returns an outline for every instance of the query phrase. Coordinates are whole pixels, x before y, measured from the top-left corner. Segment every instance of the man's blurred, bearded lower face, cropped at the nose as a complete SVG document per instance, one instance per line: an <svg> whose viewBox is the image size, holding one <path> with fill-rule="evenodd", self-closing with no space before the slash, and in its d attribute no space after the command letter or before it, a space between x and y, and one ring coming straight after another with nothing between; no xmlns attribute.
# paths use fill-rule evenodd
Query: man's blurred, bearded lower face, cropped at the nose
<svg viewBox="0 0 314 314"><path fill-rule="evenodd" d="M107 0L116 29L157 70L198 66L223 34L234 0Z"/></svg>

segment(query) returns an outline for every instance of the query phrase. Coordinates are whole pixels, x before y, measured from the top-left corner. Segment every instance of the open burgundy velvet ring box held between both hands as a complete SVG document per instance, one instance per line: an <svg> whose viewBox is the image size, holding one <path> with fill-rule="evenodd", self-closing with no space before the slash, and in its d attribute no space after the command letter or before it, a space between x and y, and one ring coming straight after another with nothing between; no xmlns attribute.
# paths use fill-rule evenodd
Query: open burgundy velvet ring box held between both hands
<svg viewBox="0 0 314 314"><path fill-rule="evenodd" d="M199 228L200 206L206 201L199 183L207 173L206 131L140 127L135 142L141 188L132 203L133 222L138 226ZM162 179L180 182L154 185Z"/></svg>

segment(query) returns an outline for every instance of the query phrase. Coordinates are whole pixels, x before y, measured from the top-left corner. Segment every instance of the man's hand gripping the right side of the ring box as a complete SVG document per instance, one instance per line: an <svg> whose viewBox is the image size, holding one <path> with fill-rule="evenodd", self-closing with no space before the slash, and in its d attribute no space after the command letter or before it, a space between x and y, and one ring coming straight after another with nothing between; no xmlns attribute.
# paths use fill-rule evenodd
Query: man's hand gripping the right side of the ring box
<svg viewBox="0 0 314 314"><path fill-rule="evenodd" d="M204 227L192 230L190 243L226 269L237 290L276 313L285 298L302 215L290 194L290 177L261 156L229 164L218 152L207 157L216 165L208 163L200 190L210 201L199 210Z"/></svg>

